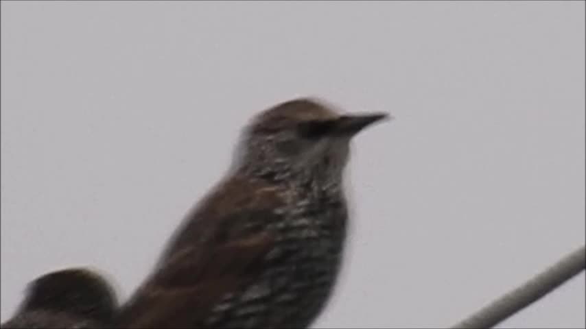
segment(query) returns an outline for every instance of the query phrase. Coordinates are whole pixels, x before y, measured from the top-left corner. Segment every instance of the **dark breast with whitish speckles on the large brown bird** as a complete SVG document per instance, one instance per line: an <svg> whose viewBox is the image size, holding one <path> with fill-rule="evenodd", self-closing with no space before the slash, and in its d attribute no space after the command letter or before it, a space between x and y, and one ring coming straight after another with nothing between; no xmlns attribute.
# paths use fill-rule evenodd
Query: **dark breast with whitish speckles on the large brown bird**
<svg viewBox="0 0 586 329"><path fill-rule="evenodd" d="M214 328L306 328L325 306L336 282L346 234L341 197L297 202L270 223L277 244L259 280L215 306Z"/></svg>

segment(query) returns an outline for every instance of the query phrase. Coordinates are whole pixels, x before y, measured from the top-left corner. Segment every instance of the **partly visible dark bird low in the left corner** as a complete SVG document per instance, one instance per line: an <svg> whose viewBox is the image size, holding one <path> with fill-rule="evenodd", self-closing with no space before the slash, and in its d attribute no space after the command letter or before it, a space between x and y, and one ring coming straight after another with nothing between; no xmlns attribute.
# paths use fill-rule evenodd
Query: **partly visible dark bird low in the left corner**
<svg viewBox="0 0 586 329"><path fill-rule="evenodd" d="M0 328L108 328L117 307L114 289L97 271L62 269L30 282L14 317Z"/></svg>

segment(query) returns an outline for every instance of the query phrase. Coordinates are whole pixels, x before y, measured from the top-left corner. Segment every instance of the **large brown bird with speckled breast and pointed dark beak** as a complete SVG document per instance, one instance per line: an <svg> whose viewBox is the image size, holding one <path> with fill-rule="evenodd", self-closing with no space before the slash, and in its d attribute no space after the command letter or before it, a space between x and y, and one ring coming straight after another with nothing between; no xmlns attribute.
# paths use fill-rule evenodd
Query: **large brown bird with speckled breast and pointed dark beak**
<svg viewBox="0 0 586 329"><path fill-rule="evenodd" d="M228 174L189 212L117 326L307 328L340 271L351 139L386 117L313 98L257 114Z"/></svg>

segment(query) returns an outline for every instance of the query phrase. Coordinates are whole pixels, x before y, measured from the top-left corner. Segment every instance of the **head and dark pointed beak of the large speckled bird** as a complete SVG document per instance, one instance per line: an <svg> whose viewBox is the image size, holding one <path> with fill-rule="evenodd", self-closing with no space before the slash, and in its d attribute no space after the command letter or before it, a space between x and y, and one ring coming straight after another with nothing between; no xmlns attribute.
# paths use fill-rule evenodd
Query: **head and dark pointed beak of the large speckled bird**
<svg viewBox="0 0 586 329"><path fill-rule="evenodd" d="M353 136L387 117L384 113L342 114L312 98L279 103L248 124L237 166L247 174L275 180L308 174L339 178Z"/></svg>

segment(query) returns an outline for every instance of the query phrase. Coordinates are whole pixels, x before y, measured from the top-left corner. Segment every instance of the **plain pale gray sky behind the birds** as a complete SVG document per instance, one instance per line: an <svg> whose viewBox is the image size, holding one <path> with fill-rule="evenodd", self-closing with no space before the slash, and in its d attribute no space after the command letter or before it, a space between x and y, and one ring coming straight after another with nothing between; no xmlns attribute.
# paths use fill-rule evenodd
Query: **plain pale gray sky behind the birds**
<svg viewBox="0 0 586 329"><path fill-rule="evenodd" d="M316 328L441 327L585 243L584 1L1 4L1 319L92 265L126 297L239 130L314 95L361 134ZM585 328L585 275L500 328Z"/></svg>

